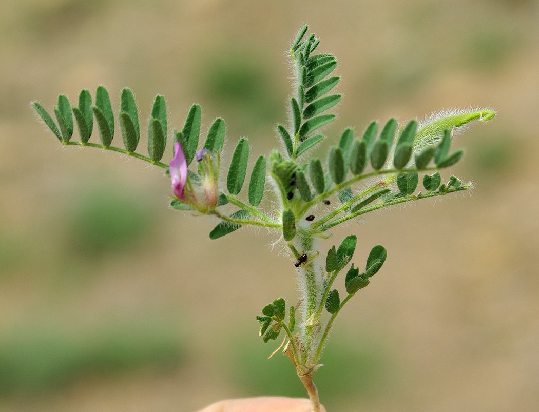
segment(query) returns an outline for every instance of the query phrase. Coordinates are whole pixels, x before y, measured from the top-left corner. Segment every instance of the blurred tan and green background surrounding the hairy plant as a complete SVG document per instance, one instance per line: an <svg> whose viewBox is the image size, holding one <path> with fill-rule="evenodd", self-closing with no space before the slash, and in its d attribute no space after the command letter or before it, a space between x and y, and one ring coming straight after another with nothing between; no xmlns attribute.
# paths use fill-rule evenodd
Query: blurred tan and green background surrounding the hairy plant
<svg viewBox="0 0 539 412"><path fill-rule="evenodd" d="M144 129L161 93L171 127L201 103L203 132L223 116L227 156L247 136L254 161L287 120L286 51L303 23L340 63L344 99L329 142L372 119L498 113L454 143L467 154L447 176L473 179L471 195L334 232L328 248L356 234L357 261L377 244L389 258L335 325L314 376L322 402L536 410L538 17L534 0L3 0L0 410L192 411L230 397L305 396L287 359L266 360L277 344L261 342L254 320L272 299L297 296L273 236L210 241L215 221L167 207L161 169L63 148L29 107L52 110L60 93L74 103L100 84L118 107L129 86Z"/></svg>

